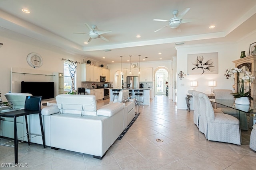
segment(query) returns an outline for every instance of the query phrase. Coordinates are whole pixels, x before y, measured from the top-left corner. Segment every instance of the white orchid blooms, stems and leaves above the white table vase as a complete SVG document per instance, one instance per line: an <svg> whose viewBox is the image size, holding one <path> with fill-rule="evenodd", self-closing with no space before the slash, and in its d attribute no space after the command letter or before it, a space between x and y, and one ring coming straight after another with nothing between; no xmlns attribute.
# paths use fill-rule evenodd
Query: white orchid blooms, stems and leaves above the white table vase
<svg viewBox="0 0 256 170"><path fill-rule="evenodd" d="M240 78L241 73L244 73L244 76ZM234 98L248 97L251 100L253 100L253 98L250 96L250 92L244 93L244 82L252 82L255 79L255 77L252 75L251 72L244 71L242 68L231 68L230 70L226 70L226 73L224 75L228 79L230 76L234 74L237 75L238 92L231 94L234 96Z"/></svg>

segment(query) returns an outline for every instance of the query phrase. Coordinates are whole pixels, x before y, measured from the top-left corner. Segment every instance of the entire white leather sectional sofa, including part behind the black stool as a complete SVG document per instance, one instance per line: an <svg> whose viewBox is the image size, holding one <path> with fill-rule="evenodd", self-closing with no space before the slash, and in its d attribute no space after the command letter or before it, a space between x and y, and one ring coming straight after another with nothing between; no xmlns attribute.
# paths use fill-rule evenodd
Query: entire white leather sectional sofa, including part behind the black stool
<svg viewBox="0 0 256 170"><path fill-rule="evenodd" d="M46 145L53 149L82 152L102 159L109 147L134 118L134 101L127 100L128 93L128 90L124 90L120 93L118 101L100 108L97 108L96 98L92 95L61 94L56 96L57 104L47 104L47 107L42 109ZM32 95L10 93L10 96L17 100ZM22 107L24 107L24 102L20 104ZM9 107L3 107L2 111L4 109L9 110ZM22 117L18 127L18 136L25 136L26 128L23 121ZM28 126L30 133L40 134L38 114L28 116ZM13 121L6 124L6 120L2 120L0 135L13 138L13 127ZM42 144L42 138L39 136L30 141Z"/></svg>

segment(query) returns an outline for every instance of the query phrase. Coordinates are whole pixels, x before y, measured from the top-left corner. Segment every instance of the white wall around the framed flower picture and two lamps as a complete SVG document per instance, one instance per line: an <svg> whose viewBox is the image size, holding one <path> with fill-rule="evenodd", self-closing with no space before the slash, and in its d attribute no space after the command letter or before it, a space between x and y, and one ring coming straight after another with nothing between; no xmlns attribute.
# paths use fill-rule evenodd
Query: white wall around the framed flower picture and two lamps
<svg viewBox="0 0 256 170"><path fill-rule="evenodd" d="M186 93L192 89L190 81L197 80L198 86L195 88L197 91L204 92L205 94L211 93L211 87L208 86L209 80L216 81L214 89L230 89L233 90L233 78L226 79L224 73L226 69L234 68L232 61L240 59L241 51L246 51L248 56L249 46L256 41L256 32L252 35L245 37L236 43L219 43L219 44L205 44L182 46L177 48L177 74L182 70L187 74L187 57L188 54L212 53L218 52L218 74L204 74L204 75L187 75L180 80L177 77L177 108L186 109ZM183 86L184 85L184 86ZM234 91L234 90L233 90ZM193 108L193 106L192 106Z"/></svg>

